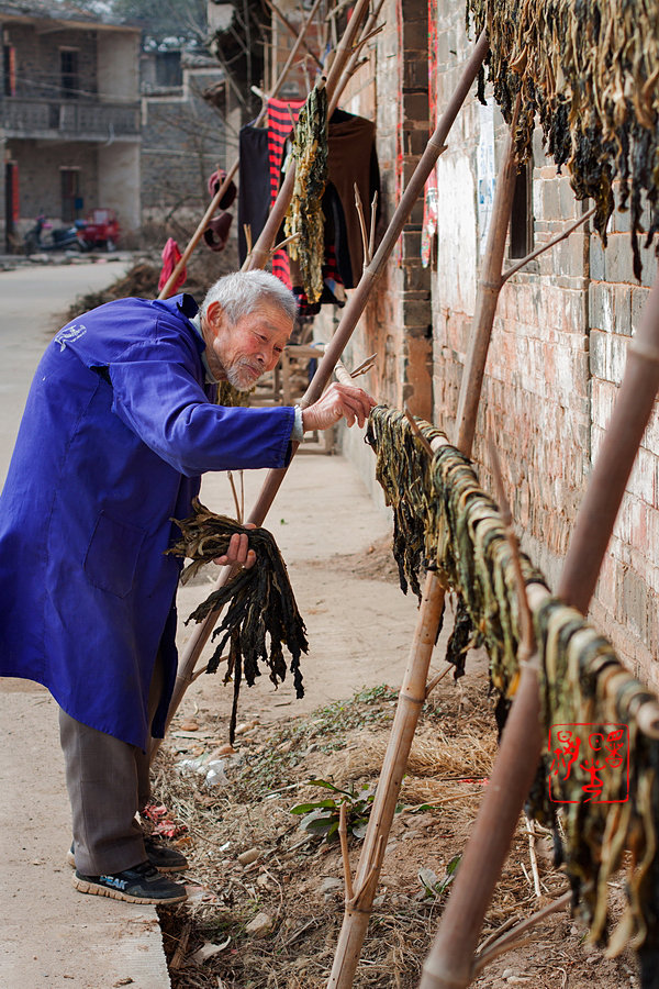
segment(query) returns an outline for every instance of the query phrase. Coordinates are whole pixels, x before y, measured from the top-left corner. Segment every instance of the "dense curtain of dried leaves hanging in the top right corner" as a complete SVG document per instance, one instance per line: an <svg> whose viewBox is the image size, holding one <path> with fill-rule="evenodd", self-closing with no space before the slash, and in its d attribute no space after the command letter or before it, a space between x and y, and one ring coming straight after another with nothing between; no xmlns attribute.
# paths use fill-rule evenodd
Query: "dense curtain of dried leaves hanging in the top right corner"
<svg viewBox="0 0 659 989"><path fill-rule="evenodd" d="M659 7L643 0L467 0L467 20L488 26L489 77L506 121L518 91L520 160L530 155L536 113L549 154L567 165L577 199L591 198L606 243L621 181L629 202L634 273L659 230Z"/></svg>

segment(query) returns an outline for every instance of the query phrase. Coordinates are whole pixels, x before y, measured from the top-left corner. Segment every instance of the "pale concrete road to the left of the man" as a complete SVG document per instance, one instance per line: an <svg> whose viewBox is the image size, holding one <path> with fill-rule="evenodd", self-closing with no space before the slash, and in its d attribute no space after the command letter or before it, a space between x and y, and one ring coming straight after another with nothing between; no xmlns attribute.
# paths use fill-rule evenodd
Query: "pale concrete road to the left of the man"
<svg viewBox="0 0 659 989"><path fill-rule="evenodd" d="M0 480L34 368L62 314L124 269L118 260L0 273ZM110 989L122 980L166 989L155 909L82 897L71 886L57 707L25 680L0 680L0 793L2 989Z"/></svg>

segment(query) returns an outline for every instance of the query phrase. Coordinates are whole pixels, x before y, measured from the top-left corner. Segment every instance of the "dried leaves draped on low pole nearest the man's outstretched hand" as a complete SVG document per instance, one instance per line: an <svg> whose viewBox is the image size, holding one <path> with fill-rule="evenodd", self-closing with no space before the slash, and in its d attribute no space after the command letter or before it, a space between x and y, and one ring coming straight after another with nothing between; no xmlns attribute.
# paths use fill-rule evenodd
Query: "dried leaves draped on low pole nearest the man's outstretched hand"
<svg viewBox="0 0 659 989"><path fill-rule="evenodd" d="M420 427L428 442L442 435L427 423ZM421 598L420 573L436 567L458 596L447 658L459 675L466 649L484 644L492 681L507 696L516 681L520 632L511 551L496 505L463 454L446 444L431 458L394 409L371 411L367 442L377 453L376 476L393 508L393 553L403 591L410 585ZM527 581L544 584L524 555L522 566Z"/></svg>

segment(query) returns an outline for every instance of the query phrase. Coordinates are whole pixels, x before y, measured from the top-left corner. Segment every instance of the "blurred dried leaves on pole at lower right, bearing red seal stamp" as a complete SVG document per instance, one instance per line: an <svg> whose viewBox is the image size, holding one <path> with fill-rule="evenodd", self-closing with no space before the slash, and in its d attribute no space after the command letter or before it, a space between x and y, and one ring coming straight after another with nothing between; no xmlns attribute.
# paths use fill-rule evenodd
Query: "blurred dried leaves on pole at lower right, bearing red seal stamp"
<svg viewBox="0 0 659 989"><path fill-rule="evenodd" d="M648 960L656 975L659 742L645 735L636 721L640 705L655 697L574 609L549 598L535 623L541 711L554 743L543 756L541 790L534 788L530 811L550 823L548 816L562 807L566 871L592 941L606 936L607 884L625 849L630 852L628 904L611 935L608 953L617 954L628 943L643 946L641 963ZM549 735L556 725L570 732L561 746L556 731ZM601 789L593 790L593 778Z"/></svg>

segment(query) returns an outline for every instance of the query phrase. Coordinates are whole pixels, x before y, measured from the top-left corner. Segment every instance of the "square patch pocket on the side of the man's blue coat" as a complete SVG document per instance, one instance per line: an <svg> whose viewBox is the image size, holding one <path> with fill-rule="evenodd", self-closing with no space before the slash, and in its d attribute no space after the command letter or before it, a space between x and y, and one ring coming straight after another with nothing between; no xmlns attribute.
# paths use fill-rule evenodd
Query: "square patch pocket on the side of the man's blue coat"
<svg viewBox="0 0 659 989"><path fill-rule="evenodd" d="M137 525L118 522L101 512L85 557L85 573L90 584L125 598L133 588L144 536L144 530Z"/></svg>

